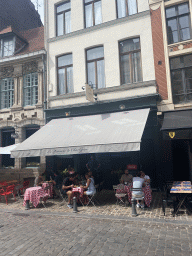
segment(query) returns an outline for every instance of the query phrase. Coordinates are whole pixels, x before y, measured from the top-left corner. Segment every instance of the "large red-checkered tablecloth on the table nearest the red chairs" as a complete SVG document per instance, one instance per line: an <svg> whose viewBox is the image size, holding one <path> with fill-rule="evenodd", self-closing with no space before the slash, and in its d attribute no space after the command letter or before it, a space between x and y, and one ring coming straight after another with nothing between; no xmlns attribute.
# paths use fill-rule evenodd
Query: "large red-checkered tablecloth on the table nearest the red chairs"
<svg viewBox="0 0 192 256"><path fill-rule="evenodd" d="M34 207L37 207L37 205L40 202L40 198L43 198L43 200L46 201L48 196L49 195L47 193L45 193L45 191L43 190L42 187L27 188L25 190L25 194L24 194L23 206L25 206L26 201L29 200L33 204Z"/></svg>

